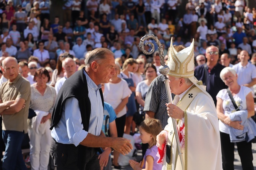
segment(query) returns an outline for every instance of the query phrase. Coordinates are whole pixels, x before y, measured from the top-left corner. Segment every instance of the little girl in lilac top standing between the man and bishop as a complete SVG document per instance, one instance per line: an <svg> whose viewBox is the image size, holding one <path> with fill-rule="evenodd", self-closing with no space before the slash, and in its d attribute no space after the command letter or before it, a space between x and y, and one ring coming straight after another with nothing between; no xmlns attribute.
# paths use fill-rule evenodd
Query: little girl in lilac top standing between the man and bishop
<svg viewBox="0 0 256 170"><path fill-rule="evenodd" d="M156 136L162 131L162 125L159 120L148 118L139 125L139 133L142 143L148 143L149 148L143 157L142 162L130 160L129 163L134 170L159 170L162 165L157 164L159 159L157 155Z"/></svg>

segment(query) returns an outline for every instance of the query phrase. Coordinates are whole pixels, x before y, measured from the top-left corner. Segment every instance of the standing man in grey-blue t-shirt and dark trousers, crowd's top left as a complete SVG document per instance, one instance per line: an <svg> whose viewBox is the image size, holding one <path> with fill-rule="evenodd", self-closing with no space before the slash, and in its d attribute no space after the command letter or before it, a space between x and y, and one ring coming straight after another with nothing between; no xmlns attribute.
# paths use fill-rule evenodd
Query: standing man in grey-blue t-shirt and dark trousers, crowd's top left
<svg viewBox="0 0 256 170"><path fill-rule="evenodd" d="M18 11L14 13L14 20L16 21L19 32L23 32L26 29L25 21L27 20L27 14L22 10L21 5L17 6Z"/></svg>

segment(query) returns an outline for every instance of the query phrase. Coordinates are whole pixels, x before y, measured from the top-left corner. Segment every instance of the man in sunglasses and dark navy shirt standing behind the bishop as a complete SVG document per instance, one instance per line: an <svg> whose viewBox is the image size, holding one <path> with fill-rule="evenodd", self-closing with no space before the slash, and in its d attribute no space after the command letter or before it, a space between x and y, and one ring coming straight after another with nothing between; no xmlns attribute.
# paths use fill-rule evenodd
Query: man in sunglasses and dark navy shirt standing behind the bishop
<svg viewBox="0 0 256 170"><path fill-rule="evenodd" d="M226 85L220 79L220 71L225 66L218 63L219 61L219 48L210 46L206 48L207 63L196 67L194 76L198 80L202 80L206 85L206 91L212 96L214 104L216 105L216 95L218 91L226 88ZM215 85L218 86L215 86Z"/></svg>

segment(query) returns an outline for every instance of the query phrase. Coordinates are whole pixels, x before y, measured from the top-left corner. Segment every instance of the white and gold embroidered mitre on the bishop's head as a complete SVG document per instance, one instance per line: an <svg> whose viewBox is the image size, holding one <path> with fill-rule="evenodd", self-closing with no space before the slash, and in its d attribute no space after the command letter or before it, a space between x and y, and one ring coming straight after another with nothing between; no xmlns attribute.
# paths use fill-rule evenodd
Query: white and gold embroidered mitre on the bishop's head
<svg viewBox="0 0 256 170"><path fill-rule="evenodd" d="M172 45L168 54L168 64L170 71L167 75L173 77L188 78L194 76L194 39L190 47L177 52Z"/></svg>

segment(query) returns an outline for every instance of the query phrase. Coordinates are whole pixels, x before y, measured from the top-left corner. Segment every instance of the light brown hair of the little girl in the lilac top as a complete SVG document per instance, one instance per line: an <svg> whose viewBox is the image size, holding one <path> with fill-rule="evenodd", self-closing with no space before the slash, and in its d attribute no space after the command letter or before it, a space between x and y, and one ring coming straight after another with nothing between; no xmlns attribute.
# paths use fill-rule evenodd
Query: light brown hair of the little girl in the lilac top
<svg viewBox="0 0 256 170"><path fill-rule="evenodd" d="M153 140L151 143L149 143L149 148L156 145L156 136L162 131L162 125L160 120L148 118L145 119L141 124L139 125L145 132L152 135Z"/></svg>

